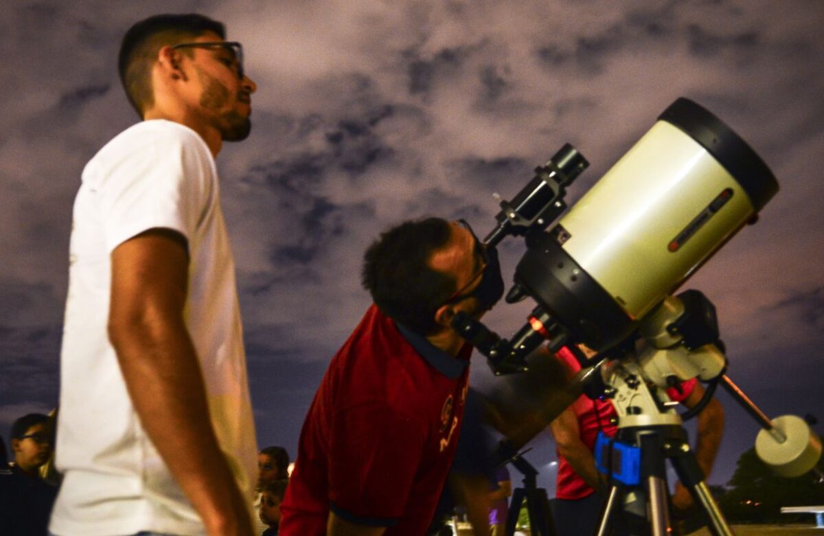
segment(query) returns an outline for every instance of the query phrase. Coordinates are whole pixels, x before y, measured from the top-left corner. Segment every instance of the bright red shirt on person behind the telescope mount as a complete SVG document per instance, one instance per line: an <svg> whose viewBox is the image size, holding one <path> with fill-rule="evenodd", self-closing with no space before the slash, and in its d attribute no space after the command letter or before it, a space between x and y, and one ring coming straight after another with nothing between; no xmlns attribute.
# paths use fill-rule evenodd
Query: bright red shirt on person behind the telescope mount
<svg viewBox="0 0 824 536"><path fill-rule="evenodd" d="M561 348L556 354L573 372L578 372L581 365L575 356L572 355L567 348ZM681 393L676 389L667 389L667 395L675 402L681 402L689 397L692 390L695 388L695 378L681 383ZM609 437L616 435L618 428L610 423L612 417L616 416L615 408L612 403L602 400L592 400L586 395L582 395L570 406L578 417L578 430L581 435L583 444L592 452L595 449L595 440L598 431L601 430ZM584 497L592 495L595 490L584 482L583 478L575 473L574 469L566 458L558 454L558 480L555 488L555 496L559 499L567 499L577 501Z"/></svg>

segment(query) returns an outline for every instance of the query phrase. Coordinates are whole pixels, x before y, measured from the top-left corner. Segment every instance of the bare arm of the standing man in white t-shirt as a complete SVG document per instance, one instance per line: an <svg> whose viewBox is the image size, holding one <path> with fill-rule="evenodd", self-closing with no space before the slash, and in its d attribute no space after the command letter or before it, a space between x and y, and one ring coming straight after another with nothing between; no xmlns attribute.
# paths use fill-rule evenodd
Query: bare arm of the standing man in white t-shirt
<svg viewBox="0 0 824 536"><path fill-rule="evenodd" d="M184 238L152 229L115 248L111 264L109 337L143 428L210 536L252 534L246 497L208 418L204 379L185 327Z"/></svg>

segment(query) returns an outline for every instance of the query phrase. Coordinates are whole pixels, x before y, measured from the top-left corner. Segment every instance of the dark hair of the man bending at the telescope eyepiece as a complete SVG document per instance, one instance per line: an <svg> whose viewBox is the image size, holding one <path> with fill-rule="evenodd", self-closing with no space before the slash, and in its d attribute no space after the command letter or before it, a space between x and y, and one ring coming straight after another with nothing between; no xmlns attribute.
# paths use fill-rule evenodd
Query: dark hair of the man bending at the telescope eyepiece
<svg viewBox="0 0 824 536"><path fill-rule="evenodd" d="M420 335L438 330L435 313L455 292L455 277L429 266L451 234L445 219L407 221L382 233L363 256L363 288L386 316Z"/></svg>

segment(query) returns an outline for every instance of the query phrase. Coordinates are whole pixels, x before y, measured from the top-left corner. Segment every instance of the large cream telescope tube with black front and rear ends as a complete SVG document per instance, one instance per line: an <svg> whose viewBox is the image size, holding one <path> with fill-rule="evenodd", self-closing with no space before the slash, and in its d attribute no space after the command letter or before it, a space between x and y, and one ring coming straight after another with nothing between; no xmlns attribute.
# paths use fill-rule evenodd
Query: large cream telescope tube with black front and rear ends
<svg viewBox="0 0 824 536"><path fill-rule="evenodd" d="M511 294L607 350L777 191L746 142L680 98L549 231L525 233Z"/></svg>

